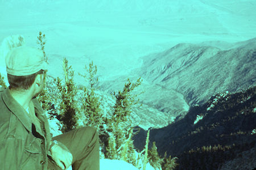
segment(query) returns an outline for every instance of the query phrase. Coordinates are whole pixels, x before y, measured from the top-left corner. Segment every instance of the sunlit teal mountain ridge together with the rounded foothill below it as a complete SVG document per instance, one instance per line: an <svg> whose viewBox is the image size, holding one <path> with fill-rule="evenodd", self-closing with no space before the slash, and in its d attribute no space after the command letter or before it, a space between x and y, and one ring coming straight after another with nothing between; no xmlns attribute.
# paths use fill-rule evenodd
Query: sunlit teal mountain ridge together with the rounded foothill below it
<svg viewBox="0 0 256 170"><path fill-rule="evenodd" d="M101 90L121 90L129 77L142 77L137 92L142 107L134 107L137 125L161 128L183 118L189 107L202 105L220 92L255 86L256 39L228 43L177 44L162 53L144 56L140 69L101 82Z"/></svg>

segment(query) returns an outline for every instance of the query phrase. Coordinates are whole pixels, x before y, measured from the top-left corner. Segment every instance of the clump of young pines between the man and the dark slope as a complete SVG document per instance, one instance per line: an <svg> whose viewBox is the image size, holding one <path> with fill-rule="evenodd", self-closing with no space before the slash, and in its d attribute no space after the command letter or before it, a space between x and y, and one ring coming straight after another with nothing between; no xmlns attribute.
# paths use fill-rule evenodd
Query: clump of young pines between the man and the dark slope
<svg viewBox="0 0 256 170"><path fill-rule="evenodd" d="M44 51L45 35L42 35L41 32L38 36L38 43L40 49ZM45 53L44 55L46 56ZM148 151L149 137L142 152L137 152L133 144L135 133L131 121L131 109L139 103L139 99L137 99L139 94L134 94L134 89L141 85L142 79L138 78L136 82L132 83L128 78L123 89L119 90L117 94L114 92L114 107L109 109L108 115L104 115L99 91L97 91L97 66L90 62L89 66L85 65L84 69L85 73L79 73L79 75L84 78L84 84L89 85L88 87L78 87L73 82L74 71L68 65L67 58L64 58L64 81L57 77L38 96L43 109L52 117L56 116L63 125L61 131L64 133L81 126L93 126L97 128L100 135L101 157L125 160L137 168L142 168L142 165L145 167L148 162L151 165L157 165L159 169L161 166L170 168L171 164L163 164L164 162L172 163L169 159L160 159L156 150ZM57 87L57 90L53 92L54 86ZM106 137L105 141L102 141L101 135ZM157 159L162 162L158 161L154 164Z"/></svg>

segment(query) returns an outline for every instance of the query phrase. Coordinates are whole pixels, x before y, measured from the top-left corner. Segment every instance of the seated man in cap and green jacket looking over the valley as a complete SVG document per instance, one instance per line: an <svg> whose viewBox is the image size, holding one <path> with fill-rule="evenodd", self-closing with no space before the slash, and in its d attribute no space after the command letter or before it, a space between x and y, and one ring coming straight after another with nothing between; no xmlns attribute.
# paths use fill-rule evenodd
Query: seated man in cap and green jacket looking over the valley
<svg viewBox="0 0 256 170"><path fill-rule="evenodd" d="M100 169L96 129L84 127L52 138L36 99L47 67L42 50L25 45L6 56L10 86L0 90L0 169Z"/></svg>

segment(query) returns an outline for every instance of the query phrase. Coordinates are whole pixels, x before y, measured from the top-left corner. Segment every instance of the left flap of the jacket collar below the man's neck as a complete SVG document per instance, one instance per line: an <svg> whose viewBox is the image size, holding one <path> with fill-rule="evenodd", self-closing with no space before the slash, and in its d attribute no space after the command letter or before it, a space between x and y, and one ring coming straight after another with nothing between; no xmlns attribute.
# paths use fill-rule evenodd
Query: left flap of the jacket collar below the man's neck
<svg viewBox="0 0 256 170"><path fill-rule="evenodd" d="M32 120L27 111L11 96L10 89L6 88L2 93L2 99L6 107L18 117L23 126L31 132Z"/></svg>

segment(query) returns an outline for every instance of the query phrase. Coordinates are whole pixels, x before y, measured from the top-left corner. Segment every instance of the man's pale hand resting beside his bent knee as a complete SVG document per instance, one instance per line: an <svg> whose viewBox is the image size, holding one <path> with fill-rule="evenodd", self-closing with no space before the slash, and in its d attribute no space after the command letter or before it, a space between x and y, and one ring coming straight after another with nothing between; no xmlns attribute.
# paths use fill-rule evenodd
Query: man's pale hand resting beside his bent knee
<svg viewBox="0 0 256 170"><path fill-rule="evenodd" d="M51 148L52 159L61 169L68 169L71 166L73 155L61 148L59 145L53 145Z"/></svg>

